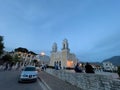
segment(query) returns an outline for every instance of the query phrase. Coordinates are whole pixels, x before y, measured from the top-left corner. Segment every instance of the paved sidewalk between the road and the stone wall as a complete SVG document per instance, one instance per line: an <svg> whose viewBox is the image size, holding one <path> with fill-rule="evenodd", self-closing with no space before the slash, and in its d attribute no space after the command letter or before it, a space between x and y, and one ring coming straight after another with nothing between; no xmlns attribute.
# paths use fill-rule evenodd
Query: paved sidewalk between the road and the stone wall
<svg viewBox="0 0 120 90"><path fill-rule="evenodd" d="M39 72L39 78L49 90L81 90L80 88L64 82L44 71Z"/></svg>

